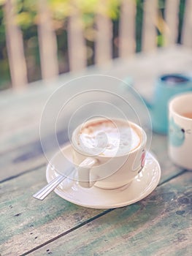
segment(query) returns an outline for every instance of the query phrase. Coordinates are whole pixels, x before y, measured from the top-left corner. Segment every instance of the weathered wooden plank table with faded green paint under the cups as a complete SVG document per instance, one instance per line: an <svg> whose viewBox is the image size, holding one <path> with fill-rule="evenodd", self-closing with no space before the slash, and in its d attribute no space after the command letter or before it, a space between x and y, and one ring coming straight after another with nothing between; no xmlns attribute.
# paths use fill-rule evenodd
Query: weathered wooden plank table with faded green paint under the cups
<svg viewBox="0 0 192 256"><path fill-rule="evenodd" d="M1 92L0 255L192 255L191 172L170 162L164 135L153 134L151 144L161 181L138 203L104 210L74 205L54 192L44 201L32 197L46 184L39 117L58 86L82 74L131 75L149 96L157 75L191 67L192 50L175 46L39 81L19 93Z"/></svg>

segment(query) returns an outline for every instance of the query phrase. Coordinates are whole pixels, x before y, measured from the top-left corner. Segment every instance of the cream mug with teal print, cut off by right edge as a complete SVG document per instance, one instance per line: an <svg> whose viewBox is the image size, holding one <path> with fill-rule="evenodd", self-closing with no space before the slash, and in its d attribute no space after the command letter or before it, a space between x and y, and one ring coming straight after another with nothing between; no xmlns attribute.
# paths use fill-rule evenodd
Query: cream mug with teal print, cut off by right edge
<svg viewBox="0 0 192 256"><path fill-rule="evenodd" d="M174 164L192 170L192 92L169 102L169 157Z"/></svg>

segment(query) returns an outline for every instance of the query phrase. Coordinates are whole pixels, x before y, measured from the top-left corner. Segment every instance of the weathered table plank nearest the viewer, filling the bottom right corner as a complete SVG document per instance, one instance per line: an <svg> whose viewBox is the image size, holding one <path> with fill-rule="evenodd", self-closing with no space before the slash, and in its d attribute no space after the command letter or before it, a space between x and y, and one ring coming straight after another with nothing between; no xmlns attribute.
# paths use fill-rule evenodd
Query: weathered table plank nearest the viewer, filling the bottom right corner
<svg viewBox="0 0 192 256"><path fill-rule="evenodd" d="M191 173L158 187L30 255L191 256Z"/></svg>

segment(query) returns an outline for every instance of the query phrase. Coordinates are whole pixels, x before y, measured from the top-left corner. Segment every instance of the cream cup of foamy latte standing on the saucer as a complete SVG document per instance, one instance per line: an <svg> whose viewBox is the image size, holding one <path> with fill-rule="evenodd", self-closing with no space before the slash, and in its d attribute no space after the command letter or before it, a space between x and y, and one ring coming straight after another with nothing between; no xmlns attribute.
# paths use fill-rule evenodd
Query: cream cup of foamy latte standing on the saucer
<svg viewBox="0 0 192 256"><path fill-rule="evenodd" d="M119 138L116 140L113 136L118 132ZM101 141L94 135L101 135ZM129 141L128 145L132 137L134 141ZM93 144L96 142L100 145L91 148L89 143L92 143L92 139ZM130 183L144 166L146 142L145 131L137 124L123 119L94 118L78 126L72 134L72 147L80 186L115 189Z"/></svg>

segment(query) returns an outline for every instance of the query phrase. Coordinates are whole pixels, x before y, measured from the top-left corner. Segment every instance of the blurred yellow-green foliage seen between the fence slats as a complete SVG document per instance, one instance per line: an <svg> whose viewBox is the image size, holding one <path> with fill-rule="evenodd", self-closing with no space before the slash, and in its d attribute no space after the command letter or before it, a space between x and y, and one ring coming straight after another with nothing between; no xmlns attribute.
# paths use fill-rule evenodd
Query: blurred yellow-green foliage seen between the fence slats
<svg viewBox="0 0 192 256"><path fill-rule="evenodd" d="M4 2L0 0L0 90L11 86L9 75L9 63L6 49ZM15 0L16 23L20 26L23 33L24 51L28 69L28 81L41 79L39 46L38 46L38 0ZM136 15L136 40L137 52L142 48L142 16L144 0L133 0L137 2ZM173 0L174 1L174 0ZM53 27L58 41L58 63L59 72L69 71L69 61L67 53L67 18L73 15L76 9L82 14L85 30L86 45L88 48L88 65L94 63L94 16L96 13L108 15L113 23L112 49L113 58L118 57L118 24L120 18L120 0L47 0L53 18ZM105 4L104 4L105 3ZM158 0L160 23L164 19L165 0ZM179 13L179 37L183 23L183 13L185 0L180 0ZM164 44L164 37L161 33L161 24L157 27L158 46Z"/></svg>

